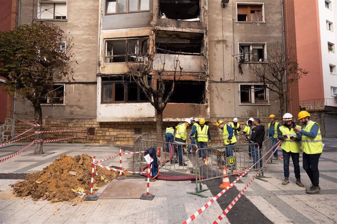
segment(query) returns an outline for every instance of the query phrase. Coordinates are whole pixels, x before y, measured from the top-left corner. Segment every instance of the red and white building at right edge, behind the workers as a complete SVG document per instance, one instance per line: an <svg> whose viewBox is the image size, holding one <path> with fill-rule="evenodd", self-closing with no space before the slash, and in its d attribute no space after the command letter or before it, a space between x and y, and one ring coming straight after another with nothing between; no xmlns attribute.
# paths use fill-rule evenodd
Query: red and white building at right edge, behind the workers
<svg viewBox="0 0 337 224"><path fill-rule="evenodd" d="M309 71L299 80L300 105L337 137L337 0L294 2L297 61Z"/></svg>

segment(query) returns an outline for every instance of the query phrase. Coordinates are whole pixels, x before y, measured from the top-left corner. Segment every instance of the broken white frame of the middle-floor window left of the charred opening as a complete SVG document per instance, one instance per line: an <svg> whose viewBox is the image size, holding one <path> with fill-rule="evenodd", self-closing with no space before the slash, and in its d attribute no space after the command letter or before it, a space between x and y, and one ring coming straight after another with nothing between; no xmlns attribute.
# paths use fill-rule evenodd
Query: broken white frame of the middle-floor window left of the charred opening
<svg viewBox="0 0 337 224"><path fill-rule="evenodd" d="M145 39L144 41L142 41L141 45L139 43L140 39ZM125 40L125 55L113 55L113 44L112 44L112 51L108 51L108 42L111 40ZM129 42L132 42L132 40L137 40L137 44L135 44L135 48L134 48L134 53L129 54L128 51L128 46L129 46ZM144 42L147 41L147 43L145 44ZM144 49L145 45L147 45L147 49ZM146 56L148 54L149 51L149 37L145 36L145 37L125 37L125 38L108 38L108 39L104 39L104 63L126 63L127 62L134 62L135 60L128 60L128 58L136 58L139 55L142 56ZM143 50L143 52L141 52ZM108 55L108 52L112 52L111 55ZM113 61L113 57L121 57L121 56L127 56L127 58L125 59L125 61ZM108 61L109 60L109 61ZM112 61L111 61L112 60Z"/></svg>

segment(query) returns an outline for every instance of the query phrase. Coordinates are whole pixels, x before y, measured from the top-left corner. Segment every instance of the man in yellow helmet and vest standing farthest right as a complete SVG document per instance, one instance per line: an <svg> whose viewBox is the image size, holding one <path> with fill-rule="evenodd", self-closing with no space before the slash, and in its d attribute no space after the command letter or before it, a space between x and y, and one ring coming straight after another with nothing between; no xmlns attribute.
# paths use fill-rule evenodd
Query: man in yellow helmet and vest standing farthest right
<svg viewBox="0 0 337 224"><path fill-rule="evenodd" d="M318 160L323 152L322 135L319 125L310 120L310 113L301 111L298 113L298 120L304 124L304 128L294 128L298 138L302 139L303 168L307 172L311 186L305 190L307 194L319 193L319 170Z"/></svg>

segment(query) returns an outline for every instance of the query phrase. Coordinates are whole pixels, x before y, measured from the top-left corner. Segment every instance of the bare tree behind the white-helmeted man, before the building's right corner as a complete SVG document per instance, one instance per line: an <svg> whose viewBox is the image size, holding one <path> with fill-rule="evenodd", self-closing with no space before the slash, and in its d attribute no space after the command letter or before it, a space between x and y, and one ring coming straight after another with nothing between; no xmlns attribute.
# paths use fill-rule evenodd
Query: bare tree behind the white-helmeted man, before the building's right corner
<svg viewBox="0 0 337 224"><path fill-rule="evenodd" d="M298 66L297 61L293 60L290 54L291 51L284 52L281 47L275 47L268 51L265 61L249 65L257 80L262 82L265 88L277 93L281 113L286 112L286 83L292 83L302 75L308 74Z"/></svg>

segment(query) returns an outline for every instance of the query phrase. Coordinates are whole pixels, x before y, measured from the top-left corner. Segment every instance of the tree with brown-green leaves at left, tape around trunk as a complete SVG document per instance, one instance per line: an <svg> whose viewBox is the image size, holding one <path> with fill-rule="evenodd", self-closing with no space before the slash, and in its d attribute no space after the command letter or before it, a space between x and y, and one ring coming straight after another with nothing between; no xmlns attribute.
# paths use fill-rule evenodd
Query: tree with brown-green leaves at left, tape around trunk
<svg viewBox="0 0 337 224"><path fill-rule="evenodd" d="M7 79L4 89L32 103L35 124L42 125L41 100L53 99L55 81L74 80L73 45L72 38L52 23L36 22L0 32L0 76ZM35 127L35 131L42 131L42 127ZM42 133L36 134L35 140L42 139ZM42 153L40 141L34 154Z"/></svg>

